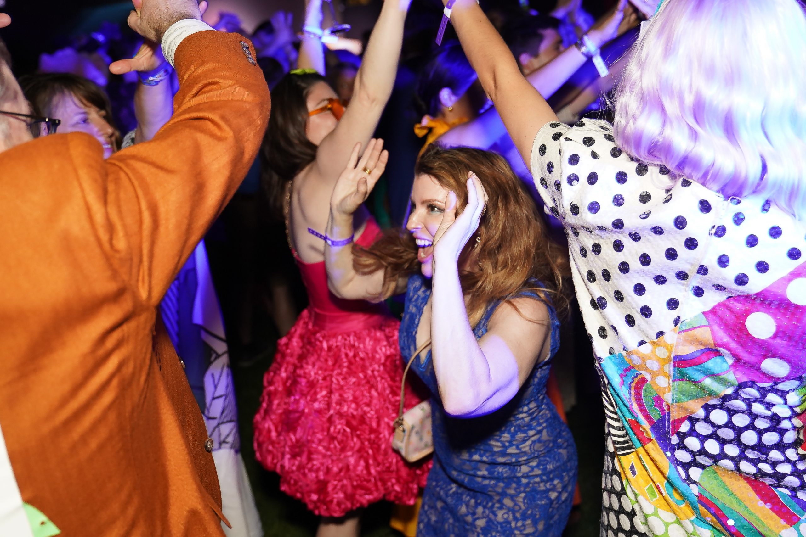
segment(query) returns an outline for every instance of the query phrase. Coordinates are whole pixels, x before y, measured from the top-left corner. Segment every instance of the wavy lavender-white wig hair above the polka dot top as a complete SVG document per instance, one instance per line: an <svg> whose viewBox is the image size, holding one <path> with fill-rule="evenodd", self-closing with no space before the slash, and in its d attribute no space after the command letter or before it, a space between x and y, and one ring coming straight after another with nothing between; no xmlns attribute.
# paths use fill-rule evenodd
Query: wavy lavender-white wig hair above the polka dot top
<svg viewBox="0 0 806 537"><path fill-rule="evenodd" d="M804 215L804 61L798 0L667 0L617 87L617 143L723 196Z"/></svg>

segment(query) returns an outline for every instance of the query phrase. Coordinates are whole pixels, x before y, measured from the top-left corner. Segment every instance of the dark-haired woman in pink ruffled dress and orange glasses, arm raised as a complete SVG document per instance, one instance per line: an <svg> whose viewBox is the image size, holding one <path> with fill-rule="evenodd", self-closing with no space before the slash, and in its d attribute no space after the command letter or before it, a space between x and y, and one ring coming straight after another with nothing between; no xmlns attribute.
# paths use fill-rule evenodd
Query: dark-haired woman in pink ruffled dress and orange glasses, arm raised
<svg viewBox="0 0 806 537"><path fill-rule="evenodd" d="M382 306L330 295L324 262L330 194L392 92L408 8L409 0L384 2L347 109L313 70L289 73L272 91L264 184L285 213L310 307L280 339L264 378L255 452L280 474L286 494L323 517L320 536L358 535L356 510L381 499L412 504L427 473L390 444L402 378L398 322ZM320 36L306 21L305 39L319 45ZM367 211L357 211L355 242L370 246L379 233ZM416 400L409 394L409 404Z"/></svg>

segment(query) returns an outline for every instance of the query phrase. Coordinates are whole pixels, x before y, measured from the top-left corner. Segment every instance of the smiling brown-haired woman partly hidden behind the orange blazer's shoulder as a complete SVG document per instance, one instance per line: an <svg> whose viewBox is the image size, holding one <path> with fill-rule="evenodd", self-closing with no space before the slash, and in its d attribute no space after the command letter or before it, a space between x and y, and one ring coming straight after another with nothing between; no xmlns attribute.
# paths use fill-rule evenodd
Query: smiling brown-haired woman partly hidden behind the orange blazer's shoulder
<svg viewBox="0 0 806 537"><path fill-rule="evenodd" d="M59 132L85 132L101 143L104 156L118 151L120 133L112 122L112 105L93 81L66 72L24 76L19 81L32 113L60 120Z"/></svg>

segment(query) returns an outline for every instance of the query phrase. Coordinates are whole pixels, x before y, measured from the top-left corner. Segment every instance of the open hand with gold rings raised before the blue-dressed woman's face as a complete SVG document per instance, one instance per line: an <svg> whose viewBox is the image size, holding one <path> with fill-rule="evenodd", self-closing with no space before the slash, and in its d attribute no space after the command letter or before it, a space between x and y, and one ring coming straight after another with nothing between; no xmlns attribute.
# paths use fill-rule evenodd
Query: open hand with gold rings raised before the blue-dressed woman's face
<svg viewBox="0 0 806 537"><path fill-rule="evenodd" d="M330 211L342 216L348 216L367 200L369 192L384 175L389 152L384 151L384 141L372 138L367 144L364 156L358 159L361 144L356 143L353 148L347 167L342 171L333 194L330 196Z"/></svg>

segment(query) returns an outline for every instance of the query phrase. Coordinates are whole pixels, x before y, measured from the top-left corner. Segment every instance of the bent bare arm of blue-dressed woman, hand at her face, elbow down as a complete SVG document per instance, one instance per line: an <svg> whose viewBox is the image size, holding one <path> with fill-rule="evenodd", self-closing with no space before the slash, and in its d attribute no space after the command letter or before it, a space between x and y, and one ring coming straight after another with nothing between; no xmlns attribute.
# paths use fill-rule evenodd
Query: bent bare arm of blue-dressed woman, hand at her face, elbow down
<svg viewBox="0 0 806 537"><path fill-rule="evenodd" d="M501 304L490 319L488 333L476 340L467 318L458 263L476 233L486 200L484 187L472 174L463 213L456 216L456 196L450 192L434 235L434 374L445 411L462 418L489 414L509 403L542 355L549 325L548 310L541 302L518 298L513 300L517 308Z"/></svg>

